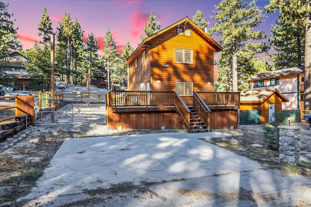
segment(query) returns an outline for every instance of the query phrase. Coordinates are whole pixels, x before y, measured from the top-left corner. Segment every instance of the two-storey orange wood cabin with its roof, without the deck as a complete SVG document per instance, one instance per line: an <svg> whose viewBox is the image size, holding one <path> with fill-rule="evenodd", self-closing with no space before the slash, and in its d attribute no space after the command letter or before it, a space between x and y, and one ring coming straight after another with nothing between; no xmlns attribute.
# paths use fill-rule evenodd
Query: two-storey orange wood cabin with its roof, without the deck
<svg viewBox="0 0 311 207"><path fill-rule="evenodd" d="M214 53L222 47L189 17L145 39L127 59L129 90L214 91Z"/></svg>

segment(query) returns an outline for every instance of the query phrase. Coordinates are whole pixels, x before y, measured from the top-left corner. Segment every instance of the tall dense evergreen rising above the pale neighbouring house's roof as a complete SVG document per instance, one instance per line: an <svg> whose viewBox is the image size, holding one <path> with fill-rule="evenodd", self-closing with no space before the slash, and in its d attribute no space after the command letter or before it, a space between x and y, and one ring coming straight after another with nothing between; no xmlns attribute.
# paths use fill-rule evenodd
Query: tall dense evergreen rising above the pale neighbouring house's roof
<svg viewBox="0 0 311 207"><path fill-rule="evenodd" d="M306 36L306 1L271 0L265 6L268 13L279 9L276 24L272 25L269 43L276 53L272 55L276 69L299 66L304 63Z"/></svg>

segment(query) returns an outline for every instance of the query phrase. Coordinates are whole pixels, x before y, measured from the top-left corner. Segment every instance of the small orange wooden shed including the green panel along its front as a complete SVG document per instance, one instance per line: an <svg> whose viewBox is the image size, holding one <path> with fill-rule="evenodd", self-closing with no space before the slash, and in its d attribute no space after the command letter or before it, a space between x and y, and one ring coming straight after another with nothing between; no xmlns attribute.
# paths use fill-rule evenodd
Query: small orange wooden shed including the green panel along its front
<svg viewBox="0 0 311 207"><path fill-rule="evenodd" d="M240 124L255 124L269 123L289 99L277 89L262 89L241 92L240 101Z"/></svg>

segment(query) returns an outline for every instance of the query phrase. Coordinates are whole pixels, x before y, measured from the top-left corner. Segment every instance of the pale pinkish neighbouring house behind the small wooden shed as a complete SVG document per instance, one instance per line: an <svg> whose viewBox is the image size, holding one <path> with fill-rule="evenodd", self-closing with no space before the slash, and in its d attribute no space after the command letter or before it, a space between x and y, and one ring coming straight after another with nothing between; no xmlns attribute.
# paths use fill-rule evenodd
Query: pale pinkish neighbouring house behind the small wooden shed
<svg viewBox="0 0 311 207"><path fill-rule="evenodd" d="M305 66L259 73L250 79L250 90L277 89L289 102L283 110L303 110Z"/></svg>

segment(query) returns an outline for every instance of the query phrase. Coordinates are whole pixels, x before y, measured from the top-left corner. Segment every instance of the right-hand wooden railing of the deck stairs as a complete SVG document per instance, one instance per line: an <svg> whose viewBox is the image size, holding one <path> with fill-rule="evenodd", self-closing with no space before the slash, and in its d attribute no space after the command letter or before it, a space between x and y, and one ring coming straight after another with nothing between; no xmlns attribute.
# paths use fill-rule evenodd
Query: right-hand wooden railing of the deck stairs
<svg viewBox="0 0 311 207"><path fill-rule="evenodd" d="M204 123L207 125L207 129L210 130L210 109L198 95L197 92L193 92L193 109L200 115L204 120Z"/></svg>

